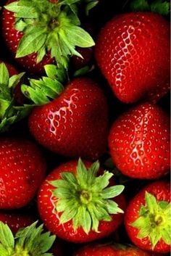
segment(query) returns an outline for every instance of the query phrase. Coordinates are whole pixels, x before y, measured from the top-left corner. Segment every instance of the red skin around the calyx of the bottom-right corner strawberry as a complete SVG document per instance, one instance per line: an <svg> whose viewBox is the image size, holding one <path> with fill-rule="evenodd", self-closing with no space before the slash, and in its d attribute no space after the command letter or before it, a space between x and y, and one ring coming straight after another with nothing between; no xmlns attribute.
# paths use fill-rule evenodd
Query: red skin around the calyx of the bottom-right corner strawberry
<svg viewBox="0 0 171 256"><path fill-rule="evenodd" d="M133 223L135 219L139 216L139 211L141 205L145 205L145 193L148 191L150 194L153 194L158 201L170 202L170 183L167 181L156 181L149 184L144 189L142 189L131 201L125 212L125 228L130 237L130 240L133 243L140 247L141 249L151 250L151 243L149 238L138 239L138 229L130 226L130 223ZM158 241L154 252L167 253L170 252L170 245L165 244L162 239Z"/></svg>

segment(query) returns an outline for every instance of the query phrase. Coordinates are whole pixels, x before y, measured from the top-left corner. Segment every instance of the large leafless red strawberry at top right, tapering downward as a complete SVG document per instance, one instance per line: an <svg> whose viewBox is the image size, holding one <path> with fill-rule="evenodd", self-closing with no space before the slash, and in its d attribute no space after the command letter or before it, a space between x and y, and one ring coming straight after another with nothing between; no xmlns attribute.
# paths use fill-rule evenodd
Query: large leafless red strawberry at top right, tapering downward
<svg viewBox="0 0 171 256"><path fill-rule="evenodd" d="M157 102L170 89L170 25L150 12L118 15L102 28L96 61L125 103Z"/></svg>

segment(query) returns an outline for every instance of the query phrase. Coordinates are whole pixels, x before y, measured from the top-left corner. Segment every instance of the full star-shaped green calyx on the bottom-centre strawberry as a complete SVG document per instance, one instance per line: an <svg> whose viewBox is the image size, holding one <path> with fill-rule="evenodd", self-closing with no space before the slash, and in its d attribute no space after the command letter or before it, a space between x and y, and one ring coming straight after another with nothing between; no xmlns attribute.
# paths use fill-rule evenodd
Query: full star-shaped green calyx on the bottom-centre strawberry
<svg viewBox="0 0 171 256"><path fill-rule="evenodd" d="M49 181L55 187L52 190L57 197L56 210L61 212L59 223L72 220L74 231L83 228L86 234L91 230L99 232L99 221L111 221L112 214L123 213L113 198L122 193L124 186L109 186L113 174L104 171L96 176L99 161L86 168L82 160L78 160L76 174L61 173L62 179Z"/></svg>

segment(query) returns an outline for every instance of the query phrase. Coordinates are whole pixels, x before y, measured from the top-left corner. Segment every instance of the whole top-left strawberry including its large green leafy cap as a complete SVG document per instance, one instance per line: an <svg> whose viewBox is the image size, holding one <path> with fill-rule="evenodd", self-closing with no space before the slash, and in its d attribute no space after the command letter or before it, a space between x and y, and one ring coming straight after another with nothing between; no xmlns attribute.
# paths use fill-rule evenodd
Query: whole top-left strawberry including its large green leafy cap
<svg viewBox="0 0 171 256"><path fill-rule="evenodd" d="M4 41L25 70L42 73L43 65L55 60L67 67L70 55L81 57L75 46L93 46L91 36L80 28L79 4L83 1L7 1L2 12Z"/></svg>

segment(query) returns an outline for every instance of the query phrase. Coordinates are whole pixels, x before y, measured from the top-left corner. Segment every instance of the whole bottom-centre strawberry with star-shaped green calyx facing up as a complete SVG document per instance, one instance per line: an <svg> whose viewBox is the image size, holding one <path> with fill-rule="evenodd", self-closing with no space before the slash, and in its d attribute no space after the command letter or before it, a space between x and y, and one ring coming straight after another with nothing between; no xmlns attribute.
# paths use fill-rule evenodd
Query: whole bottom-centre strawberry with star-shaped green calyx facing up
<svg viewBox="0 0 171 256"><path fill-rule="evenodd" d="M124 186L113 186L113 181L108 186L113 174L98 171L98 161L84 165L79 159L60 165L46 177L38 193L38 210L49 231L83 243L109 236L118 228L125 209L120 195Z"/></svg>

